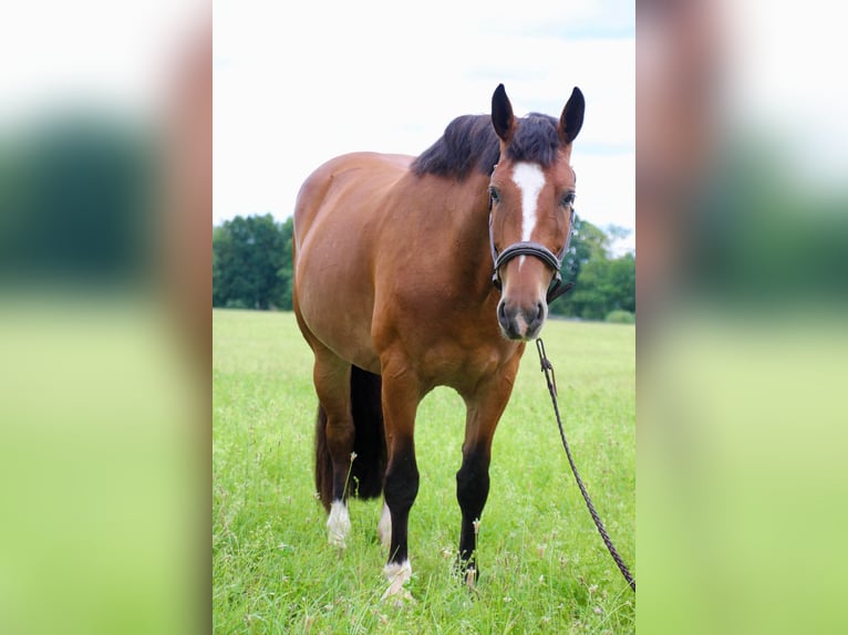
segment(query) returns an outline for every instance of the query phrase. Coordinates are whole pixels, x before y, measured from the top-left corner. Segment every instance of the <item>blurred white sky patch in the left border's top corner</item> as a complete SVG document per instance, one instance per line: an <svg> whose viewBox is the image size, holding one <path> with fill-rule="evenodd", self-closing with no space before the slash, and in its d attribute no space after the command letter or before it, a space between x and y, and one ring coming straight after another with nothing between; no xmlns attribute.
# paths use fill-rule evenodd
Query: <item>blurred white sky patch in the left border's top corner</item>
<svg viewBox="0 0 848 635"><path fill-rule="evenodd" d="M0 125L63 110L151 118L207 0L28 0L0 20ZM12 7L11 4L14 4Z"/></svg>

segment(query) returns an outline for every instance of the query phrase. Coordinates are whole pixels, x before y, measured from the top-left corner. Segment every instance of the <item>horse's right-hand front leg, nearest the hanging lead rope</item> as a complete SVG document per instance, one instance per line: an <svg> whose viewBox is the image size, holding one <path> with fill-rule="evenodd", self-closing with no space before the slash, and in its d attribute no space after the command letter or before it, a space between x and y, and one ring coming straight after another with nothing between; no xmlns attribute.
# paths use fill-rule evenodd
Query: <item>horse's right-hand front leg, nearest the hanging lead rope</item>
<svg viewBox="0 0 848 635"><path fill-rule="evenodd" d="M456 472L456 499L463 514L458 565L468 584L476 582L479 575L476 558L477 532L489 492L492 439L509 400L517 366L516 362L510 366L511 371L507 369L496 375L474 395L465 396L468 409L463 465Z"/></svg>

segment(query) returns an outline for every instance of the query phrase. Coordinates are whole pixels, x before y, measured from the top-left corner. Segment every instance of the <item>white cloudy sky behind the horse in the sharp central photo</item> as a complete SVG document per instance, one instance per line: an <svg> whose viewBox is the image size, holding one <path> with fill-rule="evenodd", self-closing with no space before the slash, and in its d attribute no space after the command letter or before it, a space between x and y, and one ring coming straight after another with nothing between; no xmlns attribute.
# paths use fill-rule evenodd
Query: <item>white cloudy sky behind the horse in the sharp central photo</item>
<svg viewBox="0 0 848 635"><path fill-rule="evenodd" d="M504 83L516 115L586 96L577 214L635 244L635 20L629 1L214 3L214 222L292 214L348 152L417 155Z"/></svg>

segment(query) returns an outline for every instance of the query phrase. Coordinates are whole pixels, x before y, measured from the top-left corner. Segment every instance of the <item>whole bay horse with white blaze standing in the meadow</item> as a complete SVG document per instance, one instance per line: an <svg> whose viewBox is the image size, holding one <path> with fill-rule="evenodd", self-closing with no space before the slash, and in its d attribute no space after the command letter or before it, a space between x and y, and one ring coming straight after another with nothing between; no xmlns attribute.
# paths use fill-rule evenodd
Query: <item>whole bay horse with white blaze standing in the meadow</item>
<svg viewBox="0 0 848 635"><path fill-rule="evenodd" d="M316 486L339 548L348 497L383 495L384 597L412 574L415 414L436 386L454 388L467 409L457 562L465 579L478 575L475 529L495 428L526 342L568 288L560 267L583 110L575 87L558 119L519 118L500 84L490 116L455 118L420 156L340 156L298 194L293 308L314 354Z"/></svg>

